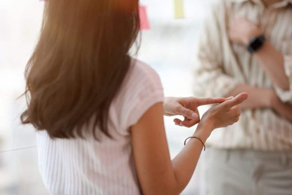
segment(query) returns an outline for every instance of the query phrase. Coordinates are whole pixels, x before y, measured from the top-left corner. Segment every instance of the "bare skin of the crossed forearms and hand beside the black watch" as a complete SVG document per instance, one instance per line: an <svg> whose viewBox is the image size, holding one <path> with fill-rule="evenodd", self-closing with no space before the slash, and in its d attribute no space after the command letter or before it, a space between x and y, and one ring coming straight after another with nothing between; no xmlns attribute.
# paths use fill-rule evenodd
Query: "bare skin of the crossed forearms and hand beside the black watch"
<svg viewBox="0 0 292 195"><path fill-rule="evenodd" d="M235 18L229 28L230 40L244 46L248 44L252 37L260 34L261 32L258 27L245 18ZM266 41L253 55L277 87L281 88L283 91L290 90L289 79L285 73L284 56L279 51ZM243 91L248 92L250 98L241 104L241 108L270 107L289 120L292 120L291 104L283 103L274 89L257 88L247 84L239 84L228 95L234 96Z"/></svg>

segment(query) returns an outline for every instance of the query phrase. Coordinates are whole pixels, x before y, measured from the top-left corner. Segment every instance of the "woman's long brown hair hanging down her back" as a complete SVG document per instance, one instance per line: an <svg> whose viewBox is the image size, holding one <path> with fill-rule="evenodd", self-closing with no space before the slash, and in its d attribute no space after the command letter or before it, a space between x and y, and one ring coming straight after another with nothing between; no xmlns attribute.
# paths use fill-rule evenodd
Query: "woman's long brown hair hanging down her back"
<svg viewBox="0 0 292 195"><path fill-rule="evenodd" d="M51 138L75 138L94 116L95 139L96 126L110 136L109 106L128 73L139 27L138 0L48 0L25 69L22 123Z"/></svg>

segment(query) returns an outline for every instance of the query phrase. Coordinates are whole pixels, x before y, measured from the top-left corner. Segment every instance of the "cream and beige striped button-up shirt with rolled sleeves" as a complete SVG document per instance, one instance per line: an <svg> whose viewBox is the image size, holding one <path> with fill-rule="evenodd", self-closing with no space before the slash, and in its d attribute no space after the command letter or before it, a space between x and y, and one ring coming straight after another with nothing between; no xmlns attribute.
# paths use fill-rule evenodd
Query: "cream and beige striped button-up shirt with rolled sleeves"
<svg viewBox="0 0 292 195"><path fill-rule="evenodd" d="M292 104L292 1L265 7L260 0L219 0L210 11L199 41L195 95L227 96L245 83L273 88L281 101ZM230 42L227 28L235 16L259 23L270 44L284 56L289 90L277 87L245 46ZM244 110L239 122L213 131L207 144L224 149L291 151L292 122L271 108Z"/></svg>

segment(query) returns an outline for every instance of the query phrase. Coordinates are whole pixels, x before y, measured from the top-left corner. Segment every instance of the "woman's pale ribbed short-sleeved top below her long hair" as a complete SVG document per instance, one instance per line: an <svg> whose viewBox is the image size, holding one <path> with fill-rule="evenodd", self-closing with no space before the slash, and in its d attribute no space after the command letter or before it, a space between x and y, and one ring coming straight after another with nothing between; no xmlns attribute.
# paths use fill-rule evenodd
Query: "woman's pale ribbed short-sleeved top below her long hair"
<svg viewBox="0 0 292 195"><path fill-rule="evenodd" d="M134 63L133 63L134 64ZM162 102L163 88L150 66L136 61L109 110L109 133L84 129L84 139L50 139L37 132L39 169L51 194L141 194L131 146L131 127L152 105Z"/></svg>

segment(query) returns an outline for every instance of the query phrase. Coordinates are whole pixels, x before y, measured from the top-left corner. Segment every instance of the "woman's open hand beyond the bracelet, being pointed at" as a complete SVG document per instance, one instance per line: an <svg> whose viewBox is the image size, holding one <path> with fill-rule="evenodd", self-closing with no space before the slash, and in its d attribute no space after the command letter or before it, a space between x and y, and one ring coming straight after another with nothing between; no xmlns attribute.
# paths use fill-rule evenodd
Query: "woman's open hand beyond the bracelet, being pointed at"
<svg viewBox="0 0 292 195"><path fill-rule="evenodd" d="M241 111L238 104L248 98L247 93L241 93L234 97L229 97L223 103L217 104L204 113L201 124L208 125L211 130L232 125L239 120Z"/></svg>

